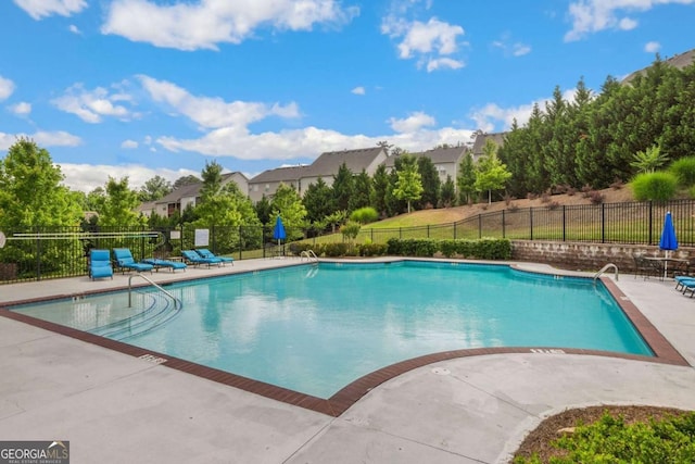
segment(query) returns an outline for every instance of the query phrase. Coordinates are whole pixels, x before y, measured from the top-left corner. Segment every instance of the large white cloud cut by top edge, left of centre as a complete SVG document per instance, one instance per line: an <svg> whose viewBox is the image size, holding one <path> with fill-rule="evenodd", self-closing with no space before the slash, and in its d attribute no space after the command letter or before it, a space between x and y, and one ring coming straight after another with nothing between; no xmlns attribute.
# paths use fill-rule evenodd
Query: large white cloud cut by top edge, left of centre
<svg viewBox="0 0 695 464"><path fill-rule="evenodd" d="M179 50L240 43L261 27L311 30L315 25L343 25L359 14L337 0L115 0L106 10L103 34Z"/></svg>

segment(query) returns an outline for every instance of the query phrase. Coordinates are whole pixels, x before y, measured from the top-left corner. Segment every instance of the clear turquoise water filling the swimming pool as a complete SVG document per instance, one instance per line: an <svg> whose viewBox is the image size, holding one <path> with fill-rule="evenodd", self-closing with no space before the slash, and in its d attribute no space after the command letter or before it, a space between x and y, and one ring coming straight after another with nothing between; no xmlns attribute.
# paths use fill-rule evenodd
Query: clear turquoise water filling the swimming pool
<svg viewBox="0 0 695 464"><path fill-rule="evenodd" d="M138 310L129 310L127 294L109 293L16 311L320 398L440 351L563 347L653 355L603 284L507 266L320 263L166 289L182 310L152 293L138 294ZM143 308L153 317L139 319Z"/></svg>

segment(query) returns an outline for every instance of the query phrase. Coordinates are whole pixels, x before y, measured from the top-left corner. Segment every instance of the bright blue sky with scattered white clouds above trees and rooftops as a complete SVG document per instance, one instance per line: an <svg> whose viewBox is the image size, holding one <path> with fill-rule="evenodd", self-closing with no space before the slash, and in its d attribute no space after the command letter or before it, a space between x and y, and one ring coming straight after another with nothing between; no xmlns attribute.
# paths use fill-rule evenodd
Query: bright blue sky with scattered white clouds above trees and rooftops
<svg viewBox="0 0 695 464"><path fill-rule="evenodd" d="M468 142L555 86L695 48L695 0L5 0L0 18L0 156L30 137L84 191Z"/></svg>

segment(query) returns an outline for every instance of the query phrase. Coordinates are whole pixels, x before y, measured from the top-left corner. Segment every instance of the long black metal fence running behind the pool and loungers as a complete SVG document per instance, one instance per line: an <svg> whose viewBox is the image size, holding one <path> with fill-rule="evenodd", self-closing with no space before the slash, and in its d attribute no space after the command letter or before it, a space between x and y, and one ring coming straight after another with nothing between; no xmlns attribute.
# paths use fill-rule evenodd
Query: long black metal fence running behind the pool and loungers
<svg viewBox="0 0 695 464"><path fill-rule="evenodd" d="M630 202L506 209L444 225L401 228L363 227L356 242L386 243L390 238L583 241L658 244L666 212L671 211L681 247L695 246L695 201ZM235 259L268 258L278 246L273 227L185 226L175 229L144 227L35 227L3 230L0 249L0 284L88 274L89 250L129 248L140 260L176 256L181 250L205 244L217 254ZM340 234L317 234L287 228L286 247L293 241L309 244L345 241ZM271 250L273 249L273 250Z"/></svg>

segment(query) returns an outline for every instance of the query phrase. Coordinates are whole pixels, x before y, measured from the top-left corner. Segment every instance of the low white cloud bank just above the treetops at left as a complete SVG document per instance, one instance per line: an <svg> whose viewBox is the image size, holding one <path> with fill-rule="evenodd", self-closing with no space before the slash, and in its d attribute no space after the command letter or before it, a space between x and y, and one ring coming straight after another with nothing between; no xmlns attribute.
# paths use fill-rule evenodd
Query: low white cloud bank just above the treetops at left
<svg viewBox="0 0 695 464"><path fill-rule="evenodd" d="M134 189L140 188L146 181L157 175L170 183L188 175L200 177L200 172L191 170L150 168L138 164L121 166L71 163L58 164L61 166L61 172L65 175L63 184L70 187L71 190L81 190L84 192L90 192L97 187L103 187L109 180L109 176L117 179L127 176L128 186Z"/></svg>

